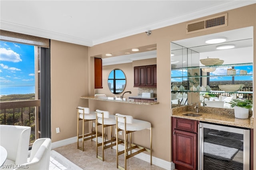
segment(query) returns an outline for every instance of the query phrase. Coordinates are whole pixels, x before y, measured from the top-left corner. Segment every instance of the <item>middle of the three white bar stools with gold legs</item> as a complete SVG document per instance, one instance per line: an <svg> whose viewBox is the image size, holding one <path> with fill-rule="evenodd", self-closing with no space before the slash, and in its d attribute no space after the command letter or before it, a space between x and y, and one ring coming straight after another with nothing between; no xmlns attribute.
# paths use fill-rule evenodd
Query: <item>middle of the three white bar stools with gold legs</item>
<svg viewBox="0 0 256 170"><path fill-rule="evenodd" d="M116 138L113 137L113 126L116 125L116 118L114 115L110 115L108 111L101 111L96 110L96 120L97 120L97 126L96 126L96 153L97 158L104 161L104 149L112 148L112 146L116 145ZM102 142L98 143L98 126L102 125ZM110 140L106 141L106 128L110 127L110 134L111 138ZM105 133L104 133L105 128ZM114 143L113 143L114 142ZM110 144L109 144L110 143ZM121 143L121 141L120 141ZM102 146L102 156L98 155L98 147Z"/></svg>

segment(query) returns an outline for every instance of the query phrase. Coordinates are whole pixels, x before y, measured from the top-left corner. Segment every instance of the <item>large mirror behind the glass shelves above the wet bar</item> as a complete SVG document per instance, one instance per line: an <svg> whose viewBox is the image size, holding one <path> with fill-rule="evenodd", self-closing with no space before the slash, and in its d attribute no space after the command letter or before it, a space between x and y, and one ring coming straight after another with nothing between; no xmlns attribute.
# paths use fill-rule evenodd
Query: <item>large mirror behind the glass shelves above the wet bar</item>
<svg viewBox="0 0 256 170"><path fill-rule="evenodd" d="M217 44L205 43L210 38L218 37L224 37L227 40ZM235 48L216 49L216 46L226 44L234 44ZM191 57L189 51L191 52ZM196 53L198 53L198 56ZM224 60L224 63L218 66L205 66L200 62L200 59L206 59L207 57L219 58ZM197 101L205 101L206 106L222 107L223 103L225 103L226 105L224 104L223 107L230 108L226 102L229 102L232 97L233 99L241 97L252 100L252 63L253 27L171 42L172 107L180 106L178 103L188 105ZM211 69L214 69L214 71ZM228 75L228 69L235 69L234 75ZM243 73L243 71L247 73ZM198 87L197 84L199 84L199 89L196 88L193 92L190 92L191 83L196 84L195 87ZM242 84L244 87L235 92L227 92L218 87L218 85L227 84ZM180 85L184 86L183 91L180 90ZM207 85L211 88L210 90L209 88L206 91L200 89L202 86L206 87ZM184 92L188 96L184 96ZM208 98L206 92L210 92L210 95L213 93L216 97ZM195 94L195 96L190 96L190 93ZM184 100L186 101L185 97L187 97L188 103L184 103Z"/></svg>

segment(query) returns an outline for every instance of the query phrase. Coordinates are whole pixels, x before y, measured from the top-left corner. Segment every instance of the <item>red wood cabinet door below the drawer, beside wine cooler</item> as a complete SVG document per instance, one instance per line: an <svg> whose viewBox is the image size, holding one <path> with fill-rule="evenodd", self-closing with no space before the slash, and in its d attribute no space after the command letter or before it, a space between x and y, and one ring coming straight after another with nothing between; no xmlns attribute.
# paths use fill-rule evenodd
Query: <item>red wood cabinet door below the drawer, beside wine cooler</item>
<svg viewBox="0 0 256 170"><path fill-rule="evenodd" d="M173 162L177 169L196 170L197 134L174 129ZM178 168L179 167L179 168ZM185 167L185 168L182 168Z"/></svg>

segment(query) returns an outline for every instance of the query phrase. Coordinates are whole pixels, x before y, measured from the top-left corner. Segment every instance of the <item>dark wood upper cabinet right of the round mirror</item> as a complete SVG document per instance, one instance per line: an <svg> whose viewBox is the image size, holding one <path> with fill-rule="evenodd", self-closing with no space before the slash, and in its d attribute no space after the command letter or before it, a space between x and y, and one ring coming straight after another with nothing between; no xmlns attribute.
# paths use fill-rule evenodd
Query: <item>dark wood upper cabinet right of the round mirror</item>
<svg viewBox="0 0 256 170"><path fill-rule="evenodd" d="M156 87L156 65L134 67L134 87Z"/></svg>

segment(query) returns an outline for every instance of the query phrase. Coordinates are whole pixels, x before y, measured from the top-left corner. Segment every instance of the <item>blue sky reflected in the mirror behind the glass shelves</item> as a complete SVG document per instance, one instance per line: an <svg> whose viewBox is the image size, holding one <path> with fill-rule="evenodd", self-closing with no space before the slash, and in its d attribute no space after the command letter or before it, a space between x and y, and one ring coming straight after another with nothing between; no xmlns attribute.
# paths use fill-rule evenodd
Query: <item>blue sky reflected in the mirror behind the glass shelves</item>
<svg viewBox="0 0 256 170"><path fill-rule="evenodd" d="M227 75L227 69L231 67L218 67L214 72L210 73L210 81L228 81L232 80L231 76L223 76ZM236 80L250 80L252 81L252 65L247 66L235 66L234 69L236 69L236 75L240 75L240 70L246 70L247 75L246 76L235 76ZM186 69L180 69L180 70L172 70L171 71L172 81L175 82L181 82L182 77L183 80L187 80L186 77L188 75L188 71ZM175 78L177 77L177 78Z"/></svg>

